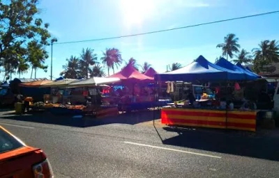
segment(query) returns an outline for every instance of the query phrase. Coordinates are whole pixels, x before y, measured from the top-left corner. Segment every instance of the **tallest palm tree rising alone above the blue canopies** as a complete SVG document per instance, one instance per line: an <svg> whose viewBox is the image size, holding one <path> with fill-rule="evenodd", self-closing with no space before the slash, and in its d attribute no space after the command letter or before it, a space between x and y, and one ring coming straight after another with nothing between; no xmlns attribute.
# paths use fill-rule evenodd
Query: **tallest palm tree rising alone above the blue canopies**
<svg viewBox="0 0 279 178"><path fill-rule="evenodd" d="M223 56L228 56L229 58L232 58L234 56L234 53L239 52L239 38L236 38L236 35L234 33L229 33L224 38L224 43L218 44L216 47L222 48Z"/></svg>

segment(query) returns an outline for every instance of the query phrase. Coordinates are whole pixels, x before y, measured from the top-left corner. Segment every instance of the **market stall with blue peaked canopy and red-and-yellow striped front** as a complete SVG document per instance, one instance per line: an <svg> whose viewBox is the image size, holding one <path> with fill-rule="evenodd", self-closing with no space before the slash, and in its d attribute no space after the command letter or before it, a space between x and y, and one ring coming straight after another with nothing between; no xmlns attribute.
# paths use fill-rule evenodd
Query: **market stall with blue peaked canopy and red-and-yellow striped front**
<svg viewBox="0 0 279 178"><path fill-rule="evenodd" d="M243 70L237 67L231 69L220 67L199 56L193 63L179 70L157 74L156 81L188 81L192 83L208 83L209 81L234 81L234 92L239 95L240 86L236 81L252 80ZM250 77L250 78L249 78ZM220 89L219 89L220 90ZM234 108L227 97L218 98L218 90L213 95L203 90L201 98L195 98L193 103L186 99L183 104L174 102L161 110L163 124L186 125L191 127L210 127L220 129L256 130L257 112L253 103L246 101L240 109ZM188 92L188 96L192 95Z"/></svg>

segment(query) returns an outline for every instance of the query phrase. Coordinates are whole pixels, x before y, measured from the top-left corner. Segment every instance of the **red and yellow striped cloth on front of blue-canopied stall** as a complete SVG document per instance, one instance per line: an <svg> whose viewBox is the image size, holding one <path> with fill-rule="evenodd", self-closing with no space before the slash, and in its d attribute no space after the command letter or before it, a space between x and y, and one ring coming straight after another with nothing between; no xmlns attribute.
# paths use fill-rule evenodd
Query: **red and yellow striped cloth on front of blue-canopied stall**
<svg viewBox="0 0 279 178"><path fill-rule="evenodd" d="M161 122L170 125L255 131L256 112L162 108Z"/></svg>

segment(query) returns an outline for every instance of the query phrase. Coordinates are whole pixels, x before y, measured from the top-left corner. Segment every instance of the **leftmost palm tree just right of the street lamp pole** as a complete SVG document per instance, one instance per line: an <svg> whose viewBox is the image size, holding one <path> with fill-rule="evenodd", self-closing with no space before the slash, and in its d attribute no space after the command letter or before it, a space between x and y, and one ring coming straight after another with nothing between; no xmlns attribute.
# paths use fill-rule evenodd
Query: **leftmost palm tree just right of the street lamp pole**
<svg viewBox="0 0 279 178"><path fill-rule="evenodd" d="M77 79L80 77L80 59L75 56L70 56L67 58L68 62L66 65L63 65L63 72L60 73L64 78Z"/></svg>

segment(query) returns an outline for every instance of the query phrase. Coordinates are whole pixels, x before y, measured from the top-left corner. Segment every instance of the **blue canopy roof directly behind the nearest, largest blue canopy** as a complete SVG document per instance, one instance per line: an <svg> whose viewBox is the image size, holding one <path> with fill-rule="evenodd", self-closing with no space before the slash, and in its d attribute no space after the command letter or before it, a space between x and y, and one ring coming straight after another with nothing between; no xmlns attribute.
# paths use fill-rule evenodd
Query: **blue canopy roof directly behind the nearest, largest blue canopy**
<svg viewBox="0 0 279 178"><path fill-rule="evenodd" d="M251 72L248 72L246 69L243 69L237 65L233 65L225 58L220 58L215 64L219 65L220 67L224 67L228 70L233 70L234 72L243 74L245 76L245 80L248 80L248 81L259 78L258 76L255 76L255 74L251 74Z"/></svg>

